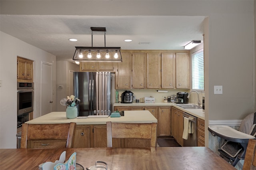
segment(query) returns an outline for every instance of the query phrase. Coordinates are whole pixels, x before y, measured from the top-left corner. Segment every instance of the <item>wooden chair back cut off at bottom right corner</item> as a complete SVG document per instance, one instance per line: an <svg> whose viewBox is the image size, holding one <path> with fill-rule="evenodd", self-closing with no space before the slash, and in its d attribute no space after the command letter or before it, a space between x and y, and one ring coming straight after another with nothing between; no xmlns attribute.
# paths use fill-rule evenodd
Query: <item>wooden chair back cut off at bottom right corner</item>
<svg viewBox="0 0 256 170"><path fill-rule="evenodd" d="M250 139L244 158L243 170L256 170L256 140Z"/></svg>

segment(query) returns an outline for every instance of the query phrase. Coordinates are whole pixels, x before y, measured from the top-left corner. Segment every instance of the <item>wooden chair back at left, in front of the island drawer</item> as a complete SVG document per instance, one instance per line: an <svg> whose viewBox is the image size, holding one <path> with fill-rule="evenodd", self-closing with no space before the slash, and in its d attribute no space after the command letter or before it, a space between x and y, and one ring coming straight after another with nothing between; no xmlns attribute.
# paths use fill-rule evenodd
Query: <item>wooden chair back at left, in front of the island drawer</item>
<svg viewBox="0 0 256 170"><path fill-rule="evenodd" d="M72 148L76 123L22 125L20 148Z"/></svg>

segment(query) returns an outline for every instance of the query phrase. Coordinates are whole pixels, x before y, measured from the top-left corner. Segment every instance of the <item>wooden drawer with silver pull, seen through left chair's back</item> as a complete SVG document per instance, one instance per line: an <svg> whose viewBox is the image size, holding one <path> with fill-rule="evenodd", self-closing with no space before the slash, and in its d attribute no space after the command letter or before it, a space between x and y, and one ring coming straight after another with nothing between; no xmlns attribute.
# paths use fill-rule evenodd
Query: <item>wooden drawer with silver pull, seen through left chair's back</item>
<svg viewBox="0 0 256 170"><path fill-rule="evenodd" d="M31 148L66 148L67 140L29 140Z"/></svg>

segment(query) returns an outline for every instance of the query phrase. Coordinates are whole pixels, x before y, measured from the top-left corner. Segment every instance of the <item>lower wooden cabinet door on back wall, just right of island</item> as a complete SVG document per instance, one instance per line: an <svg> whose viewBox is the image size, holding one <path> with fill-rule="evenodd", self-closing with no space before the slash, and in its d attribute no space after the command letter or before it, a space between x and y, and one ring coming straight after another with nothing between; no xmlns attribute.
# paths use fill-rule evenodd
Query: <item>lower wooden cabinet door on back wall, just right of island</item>
<svg viewBox="0 0 256 170"><path fill-rule="evenodd" d="M171 136L171 107L158 107L158 134Z"/></svg>

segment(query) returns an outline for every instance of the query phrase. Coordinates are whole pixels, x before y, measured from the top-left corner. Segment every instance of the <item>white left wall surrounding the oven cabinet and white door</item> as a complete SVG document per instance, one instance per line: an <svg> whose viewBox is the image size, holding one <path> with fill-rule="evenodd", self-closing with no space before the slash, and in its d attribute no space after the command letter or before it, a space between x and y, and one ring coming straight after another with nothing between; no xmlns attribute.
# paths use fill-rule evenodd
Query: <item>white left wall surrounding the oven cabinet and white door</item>
<svg viewBox="0 0 256 170"><path fill-rule="evenodd" d="M4 32L0 32L0 49L0 148L16 148L17 55L34 60L34 118L40 116L41 62L52 63L55 86L56 57ZM55 103L54 95L52 99Z"/></svg>

